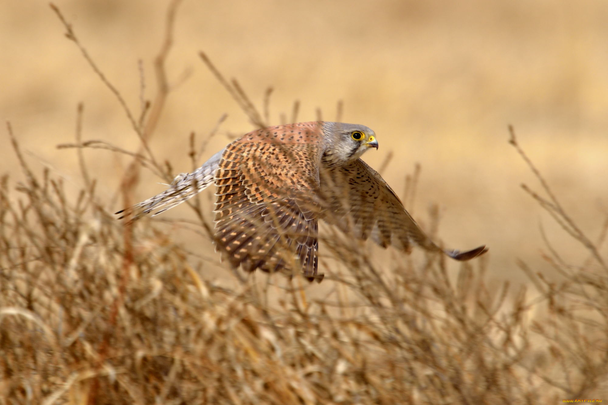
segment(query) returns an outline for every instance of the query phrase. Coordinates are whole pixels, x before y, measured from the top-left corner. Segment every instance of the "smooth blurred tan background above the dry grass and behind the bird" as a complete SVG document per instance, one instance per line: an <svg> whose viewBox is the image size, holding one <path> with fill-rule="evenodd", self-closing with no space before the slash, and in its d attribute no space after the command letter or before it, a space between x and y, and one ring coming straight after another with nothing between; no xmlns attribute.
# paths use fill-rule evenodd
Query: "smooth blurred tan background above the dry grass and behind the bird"
<svg viewBox="0 0 608 405"><path fill-rule="evenodd" d="M139 111L138 61L151 99L168 1L55 4ZM378 134L379 150L364 160L378 168L395 153L383 174L397 193L406 173L421 164L413 216L426 224L429 204L440 204L441 240L457 248L488 244L489 268L500 277L520 277L516 258L542 265L540 224L564 258L577 263L584 249L520 189L522 182L539 187L508 144L507 125L573 219L597 237L608 213L606 21L605 0L185 0L167 66L173 91L151 148L176 172L190 171L191 131L202 139L228 114L206 158L229 142L227 134L252 129L198 58L204 50L257 106L265 89L274 88L272 124L281 113L291 115L294 100L300 100L299 121L316 119L317 108L333 120L342 100L342 120ZM77 190L75 151L56 148L74 141L77 103L85 105L83 139L129 150L139 140L64 32L46 2L0 2L0 118L12 122L34 167L51 168ZM108 209L122 208L111 196L128 159L102 150L86 157ZM15 162L8 137L0 136L0 173L19 179ZM137 198L160 192L159 181L144 171ZM191 215L185 206L174 211L169 216ZM174 237L212 251L185 232Z"/></svg>

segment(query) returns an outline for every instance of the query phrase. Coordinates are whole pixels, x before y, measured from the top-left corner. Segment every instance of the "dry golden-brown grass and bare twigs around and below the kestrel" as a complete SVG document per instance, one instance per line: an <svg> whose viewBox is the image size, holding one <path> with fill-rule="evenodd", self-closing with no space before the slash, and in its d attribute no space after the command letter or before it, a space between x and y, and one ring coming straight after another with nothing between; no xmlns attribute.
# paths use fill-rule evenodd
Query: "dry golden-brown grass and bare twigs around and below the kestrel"
<svg viewBox="0 0 608 405"><path fill-rule="evenodd" d="M320 286L299 278L241 280L230 269L224 282L208 277L217 258L174 243L166 224L116 221L84 153L105 148L130 159L116 179L125 206L134 201L142 165L167 182L173 177L148 145L171 92L165 64L172 12L166 16L157 94L150 102L142 97L138 112L120 102L138 150L83 140L77 109L75 143L64 147L75 148L80 192L33 168L18 130L7 128L21 172L12 176L23 180L4 175L0 182L0 403L512 404L608 393L608 268L601 250L608 220L596 221L595 240L581 230L514 131L511 144L541 181L541 192L524 189L568 246L586 252L573 263L547 238L544 267L519 260L529 283L497 285L488 273L500 270L487 258L455 273L443 258L420 252L375 260L368 245L331 229L321 241L330 272ZM63 21L97 80L114 88ZM271 92L256 108L237 81L217 69L215 75L253 125L268 122ZM295 120L298 108L285 119ZM191 137L193 166L204 144ZM404 201L413 200L416 179ZM209 206L195 200L192 209L195 220L165 222L207 243ZM437 218L435 211L429 229L437 229Z"/></svg>

